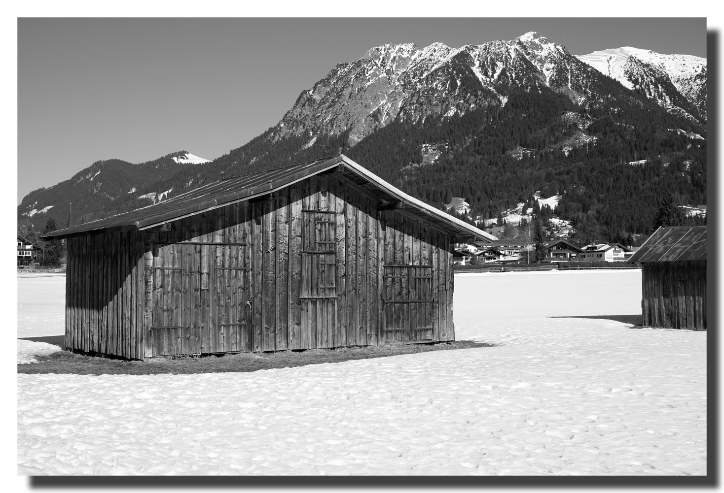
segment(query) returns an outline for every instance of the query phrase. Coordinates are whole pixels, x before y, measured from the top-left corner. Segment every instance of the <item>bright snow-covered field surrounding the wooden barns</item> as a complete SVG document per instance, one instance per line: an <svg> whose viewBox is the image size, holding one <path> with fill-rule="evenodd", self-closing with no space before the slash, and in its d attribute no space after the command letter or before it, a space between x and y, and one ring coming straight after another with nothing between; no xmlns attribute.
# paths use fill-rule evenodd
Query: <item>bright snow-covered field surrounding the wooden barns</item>
<svg viewBox="0 0 724 493"><path fill-rule="evenodd" d="M18 471L704 475L707 334L626 323L640 276L456 275L456 338L493 348L245 374L20 374ZM62 283L18 283L19 336L61 334Z"/></svg>

